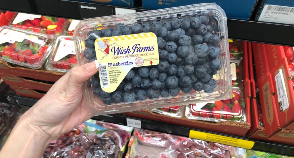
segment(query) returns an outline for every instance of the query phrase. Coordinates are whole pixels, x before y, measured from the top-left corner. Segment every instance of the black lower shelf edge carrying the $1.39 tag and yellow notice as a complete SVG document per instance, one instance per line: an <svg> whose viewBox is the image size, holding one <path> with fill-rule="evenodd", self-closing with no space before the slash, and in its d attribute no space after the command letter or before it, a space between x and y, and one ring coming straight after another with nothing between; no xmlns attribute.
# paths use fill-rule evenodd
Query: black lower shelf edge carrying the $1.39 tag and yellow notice
<svg viewBox="0 0 294 158"><path fill-rule="evenodd" d="M38 101L38 99L32 99L32 98L27 98L27 97L21 97L21 96L15 96L15 97L21 105L29 106L29 107L33 106ZM152 121L152 120L147 120L147 119L125 116L123 114L94 116L92 119L115 123L115 124L120 124L120 125L125 125L125 126L130 125L130 120L127 121L127 119L133 119L131 121L138 121L139 122L139 125L136 123L136 125L134 125L133 127L139 126L143 129L147 129L147 130L153 130L153 131L158 131L158 132L163 132L163 133L170 133L170 134L180 135L180 136L184 136L184 137L189 137L189 135L191 136L191 132L198 131L198 132L203 132L204 134L215 134L220 137L225 136L225 137L228 137L228 139L237 140L238 143L236 143L235 146L245 145L246 143L252 143L252 144L254 143L252 148L250 147L251 150L258 150L258 151L262 151L262 152L280 154L280 155L285 155L285 156L293 156L293 153L294 153L294 146L290 146L290 145L283 145L283 144L276 144L273 142L264 142L264 141L260 141L260 140L253 140L253 139L249 139L246 137L239 137L239 136L235 136L235 135L228 135L228 134L224 134L224 133L212 132L212 131L208 131L208 130L201 130L201 129L196 129L196 128L178 126L178 125L159 122L159 121ZM197 136L196 136L196 138L197 138ZM223 144L226 144L226 143L223 143ZM228 145L230 145L230 144L228 144Z"/></svg>

